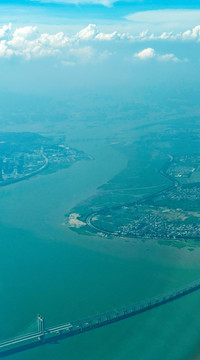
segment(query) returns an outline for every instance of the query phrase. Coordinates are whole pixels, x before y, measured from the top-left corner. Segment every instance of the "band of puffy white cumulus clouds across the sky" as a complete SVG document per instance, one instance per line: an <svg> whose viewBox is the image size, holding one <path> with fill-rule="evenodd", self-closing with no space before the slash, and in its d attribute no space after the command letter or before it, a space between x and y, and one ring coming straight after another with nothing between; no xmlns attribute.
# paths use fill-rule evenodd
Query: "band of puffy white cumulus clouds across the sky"
<svg viewBox="0 0 200 360"><path fill-rule="evenodd" d="M90 24L78 33L68 37L63 32L56 34L40 33L36 26L24 26L13 29L11 24L0 28L0 58L21 57L26 60L41 57L57 56L65 64L74 61L88 62L106 59L113 54L111 47L116 44L126 44L131 49L134 44L150 42L200 42L200 25L182 33L167 33L160 35L143 31L142 33L127 34L113 31L104 33L95 24ZM114 44L114 45L112 45ZM134 53L134 50L133 52ZM140 52L135 52L134 58L140 60L158 59L177 62L176 55L166 52L161 55L151 46Z"/></svg>

